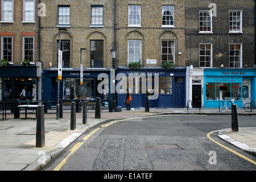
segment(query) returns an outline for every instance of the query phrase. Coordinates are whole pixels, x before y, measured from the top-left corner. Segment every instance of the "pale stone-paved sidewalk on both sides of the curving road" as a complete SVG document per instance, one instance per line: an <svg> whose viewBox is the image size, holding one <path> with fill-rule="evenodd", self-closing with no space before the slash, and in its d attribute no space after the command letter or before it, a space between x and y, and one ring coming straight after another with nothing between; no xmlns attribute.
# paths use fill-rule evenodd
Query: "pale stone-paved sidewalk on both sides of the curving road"
<svg viewBox="0 0 256 182"><path fill-rule="evenodd" d="M55 158L61 151L64 150L68 144L72 143L77 137L85 133L94 126L101 123L112 121L113 119L121 119L127 117L134 117L136 115L156 115L156 114L230 114L220 113L218 109L203 109L199 108L167 108L156 109L150 108L150 112L144 112L144 108L135 108L134 110L109 113L104 110L101 113L101 118L94 118L94 111L88 111L88 123L82 124L82 113L76 113L76 130L70 130L70 110L64 110L63 118L56 119L56 114L45 114L45 141L46 146L43 148L35 147L36 140L36 120L35 119L13 119L13 115L7 115L7 120L0 120L0 171L32 171L40 170L53 158ZM238 114L253 114L240 111ZM20 115L23 118L24 114ZM35 117L28 115L28 117ZM256 128L241 129L239 133L229 133L228 130L223 131L223 139L234 138L250 146L252 154L255 154L255 140ZM238 136L237 136L238 135ZM242 140L239 138L242 136ZM230 138L229 138L230 137ZM250 138L253 140L251 144L243 142L244 139ZM232 140L232 142L234 142ZM253 149L252 149L253 148Z"/></svg>

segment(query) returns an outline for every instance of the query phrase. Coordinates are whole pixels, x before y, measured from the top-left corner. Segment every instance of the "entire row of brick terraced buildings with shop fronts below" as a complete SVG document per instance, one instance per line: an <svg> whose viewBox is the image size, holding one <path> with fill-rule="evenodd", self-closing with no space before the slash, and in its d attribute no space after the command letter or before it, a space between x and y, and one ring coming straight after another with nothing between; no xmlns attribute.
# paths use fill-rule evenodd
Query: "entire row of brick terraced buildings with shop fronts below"
<svg viewBox="0 0 256 182"><path fill-rule="evenodd" d="M105 90L106 94L97 92L100 73L112 82L112 48L116 50L115 75L146 76L146 92L142 91L145 83L141 78L127 81L134 107L144 106L146 96L154 96L150 100L151 107L184 107L199 95L200 98L192 101L193 105L197 100L201 106L214 105L222 96L224 98L222 93L227 91L220 92L220 86L226 86L226 82L211 85L210 77L229 71L246 72L236 75L233 82L237 85L230 82L230 98L236 93L236 98L242 102L243 97L238 95L245 93L243 85L247 86L250 97L256 97L251 92L256 90L255 69L252 68L255 64L255 5L252 0L1 0L0 5L0 55L1 59L9 58L9 65L1 67L2 98L6 88L14 86L16 92L22 86L18 81L7 81L8 77L14 77L11 76L15 75L14 67L19 68L20 78L26 77L26 69L34 67L35 74L30 76L36 80L36 95L42 93L43 99L56 100L59 43L63 51L60 85L63 100L96 97L115 100L117 96L117 104L125 106L122 103L125 88L116 90L116 95L109 94L110 90ZM30 60L28 67L21 67L23 59ZM82 86L80 61L84 67ZM129 63L133 62L141 63L142 68L129 68ZM175 68L162 68L165 62L174 64ZM39 82L40 63L42 84ZM13 71L6 71L6 68ZM148 85L147 80L151 75L154 80L156 73L159 80ZM34 92L33 82L24 83L27 91ZM209 89L212 89L211 96Z"/></svg>

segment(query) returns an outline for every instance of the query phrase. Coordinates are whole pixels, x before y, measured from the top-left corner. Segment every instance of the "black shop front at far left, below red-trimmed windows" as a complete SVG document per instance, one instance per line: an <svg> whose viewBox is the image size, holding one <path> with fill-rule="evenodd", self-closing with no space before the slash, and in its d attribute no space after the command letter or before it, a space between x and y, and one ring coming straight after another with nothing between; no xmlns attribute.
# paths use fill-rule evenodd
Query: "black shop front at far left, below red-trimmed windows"
<svg viewBox="0 0 256 182"><path fill-rule="evenodd" d="M41 100L41 63L0 67L0 101Z"/></svg>

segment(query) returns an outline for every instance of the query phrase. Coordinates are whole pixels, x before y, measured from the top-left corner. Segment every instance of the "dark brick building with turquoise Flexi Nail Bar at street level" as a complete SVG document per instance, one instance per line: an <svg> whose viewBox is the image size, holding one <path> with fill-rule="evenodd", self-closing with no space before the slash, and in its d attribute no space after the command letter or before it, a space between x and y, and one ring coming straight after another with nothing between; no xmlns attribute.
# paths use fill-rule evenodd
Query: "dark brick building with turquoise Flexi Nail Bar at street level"
<svg viewBox="0 0 256 182"><path fill-rule="evenodd" d="M255 2L186 1L187 101L219 107L255 100Z"/></svg>

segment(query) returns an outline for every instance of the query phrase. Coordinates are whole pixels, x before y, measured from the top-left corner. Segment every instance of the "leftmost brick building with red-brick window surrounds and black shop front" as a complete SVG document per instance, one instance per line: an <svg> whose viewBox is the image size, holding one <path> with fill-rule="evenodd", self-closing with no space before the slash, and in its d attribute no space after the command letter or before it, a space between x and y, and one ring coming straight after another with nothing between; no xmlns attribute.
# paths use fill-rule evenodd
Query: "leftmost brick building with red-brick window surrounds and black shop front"
<svg viewBox="0 0 256 182"><path fill-rule="evenodd" d="M0 1L0 100L41 99L38 4L38 0ZM23 66L24 60L30 65Z"/></svg>

